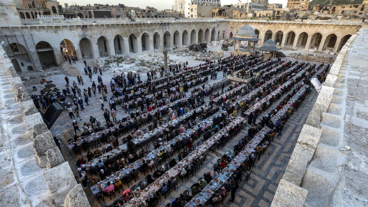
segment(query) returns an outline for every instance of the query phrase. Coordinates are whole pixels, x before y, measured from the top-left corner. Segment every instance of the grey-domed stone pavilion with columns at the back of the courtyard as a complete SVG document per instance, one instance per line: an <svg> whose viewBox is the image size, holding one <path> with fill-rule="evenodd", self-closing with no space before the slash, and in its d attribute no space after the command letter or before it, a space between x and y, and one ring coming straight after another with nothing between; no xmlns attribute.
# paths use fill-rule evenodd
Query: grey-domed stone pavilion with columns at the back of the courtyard
<svg viewBox="0 0 368 207"><path fill-rule="evenodd" d="M254 32L254 29L249 25L244 25L241 27L236 34L230 39L234 40L234 54L247 54L254 55L255 54L255 44L259 41L257 35ZM240 49L241 41L247 41L248 46L247 49ZM236 42L238 42L238 50L235 49ZM253 43L253 49L251 48L251 44Z"/></svg>

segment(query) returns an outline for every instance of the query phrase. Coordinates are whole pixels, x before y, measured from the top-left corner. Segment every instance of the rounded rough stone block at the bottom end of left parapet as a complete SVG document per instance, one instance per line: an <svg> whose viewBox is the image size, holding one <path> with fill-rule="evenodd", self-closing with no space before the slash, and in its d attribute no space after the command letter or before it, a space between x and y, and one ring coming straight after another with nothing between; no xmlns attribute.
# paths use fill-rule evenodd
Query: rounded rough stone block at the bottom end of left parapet
<svg viewBox="0 0 368 207"><path fill-rule="evenodd" d="M80 183L67 194L64 201L64 207L90 207Z"/></svg>

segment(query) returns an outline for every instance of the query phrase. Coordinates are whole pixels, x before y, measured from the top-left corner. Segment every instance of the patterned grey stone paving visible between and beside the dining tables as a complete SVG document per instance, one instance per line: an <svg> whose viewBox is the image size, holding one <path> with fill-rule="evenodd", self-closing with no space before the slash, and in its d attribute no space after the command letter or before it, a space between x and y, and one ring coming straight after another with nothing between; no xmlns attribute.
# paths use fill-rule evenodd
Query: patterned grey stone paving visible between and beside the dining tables
<svg viewBox="0 0 368 207"><path fill-rule="evenodd" d="M215 83L222 80L222 72L220 72L217 76L217 80L209 80L209 83ZM221 90L221 89L220 89ZM221 92L221 91L220 91ZM190 92L187 93L189 95ZM240 188L236 193L236 198L233 203L230 203L229 195L224 200L224 203L220 204L220 206L261 206L266 207L270 206L272 202L273 195L276 192L277 185L280 179L283 176L285 168L287 166L287 162L290 159L290 155L293 152L298 134L302 128L302 124L307 119L308 113L312 108L313 103L315 102L317 93L313 91L302 104L302 107L294 112L294 115L291 116L290 120L286 123L284 127L283 135L280 137L275 137L275 140L270 144L267 148L267 151L264 155L262 155L261 159L257 161L254 165L254 168L251 169L251 179L248 182L243 181L240 184ZM90 99L90 106L98 105L98 98ZM205 97L205 101L209 102L209 97ZM104 124L105 120L102 118L101 110L97 107L87 107L87 110L84 110L82 115L82 119L88 120L90 115L95 116L97 119L102 120ZM276 106L274 104L274 106ZM273 107L274 107L273 106ZM272 108L272 107L271 107ZM270 110L270 109L269 109ZM118 109L118 117L125 117L125 114L121 109ZM264 113L265 114L265 113ZM67 148L66 144L67 140L71 138L71 134L73 133L72 127L69 126L70 118L67 113L63 113L59 119L65 120L66 122L59 122L54 124L52 127L52 131L55 134L59 134L59 137L63 141L61 143L62 154L66 160L68 160L70 166L72 166L73 171L75 171L75 175L77 175L75 166L75 161L77 157L70 152ZM82 120L80 123L83 123ZM249 126L248 126L249 127ZM184 190L190 188L190 186L197 182L199 178L203 176L203 174L208 170L213 170L213 165L227 150L233 151L233 145L240 140L241 137L244 137L247 133L248 127L245 127L241 133L239 133L233 140L231 140L227 145L217 150L215 153L209 152L208 161L197 171L195 176L190 178L189 180L185 180L184 182L179 182L179 187L176 191L172 192L167 199L162 197L162 202L159 206L163 206L166 203L169 203L170 200L175 199L180 193L183 193ZM142 129L145 127L142 127ZM174 155L177 158L177 153ZM137 180L137 184L140 180L144 179L144 175L139 175L139 180ZM126 186L124 186L124 189ZM121 198L121 194L117 194L116 198L110 200L110 198L105 197L105 201L98 201L95 199L89 188L85 189L86 195L89 199L91 206L105 206L111 205L114 200Z"/></svg>

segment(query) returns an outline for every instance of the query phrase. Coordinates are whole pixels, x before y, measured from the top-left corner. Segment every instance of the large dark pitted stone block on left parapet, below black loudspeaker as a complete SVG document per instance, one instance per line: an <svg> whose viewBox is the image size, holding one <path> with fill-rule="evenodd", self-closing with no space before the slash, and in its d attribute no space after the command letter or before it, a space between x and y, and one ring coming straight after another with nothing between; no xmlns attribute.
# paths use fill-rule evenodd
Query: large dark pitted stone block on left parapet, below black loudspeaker
<svg viewBox="0 0 368 207"><path fill-rule="evenodd" d="M56 147L55 141L50 131L39 134L33 140L33 151L40 167L45 167L47 164L46 152L49 149Z"/></svg>

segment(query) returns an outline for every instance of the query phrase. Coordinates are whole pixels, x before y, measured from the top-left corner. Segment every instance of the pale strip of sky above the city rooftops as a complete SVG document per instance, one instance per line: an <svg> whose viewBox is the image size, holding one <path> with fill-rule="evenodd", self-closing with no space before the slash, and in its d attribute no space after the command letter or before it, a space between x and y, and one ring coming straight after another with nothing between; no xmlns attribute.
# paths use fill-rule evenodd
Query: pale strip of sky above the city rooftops
<svg viewBox="0 0 368 207"><path fill-rule="evenodd" d="M64 6L64 3L67 3L68 5L77 4L77 5L86 5L88 4L109 4L109 5L117 5L117 4L125 4L125 6L131 6L131 7L140 7L140 8L146 8L146 6L155 7L158 10L164 10L164 9L171 9L172 4L174 3L173 0L100 0L100 1L93 1L93 0L58 0L61 5ZM241 0L242 3L247 3L247 0ZM250 2L250 0L248 0ZM279 3L282 4L283 7L286 7L287 0L269 0L269 4L273 3ZM236 4L238 3L238 0L221 0L222 5L228 5L228 4Z"/></svg>

